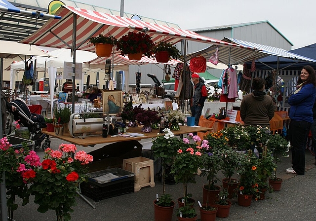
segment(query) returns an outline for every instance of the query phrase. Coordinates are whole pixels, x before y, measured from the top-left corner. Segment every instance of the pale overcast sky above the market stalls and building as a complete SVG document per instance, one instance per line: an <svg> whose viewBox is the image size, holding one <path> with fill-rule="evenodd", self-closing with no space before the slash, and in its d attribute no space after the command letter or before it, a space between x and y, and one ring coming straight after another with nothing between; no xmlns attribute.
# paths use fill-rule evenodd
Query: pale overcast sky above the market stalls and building
<svg viewBox="0 0 316 221"><path fill-rule="evenodd" d="M76 0L120 10L121 0ZM124 11L181 29L268 20L294 46L316 43L316 0L124 0Z"/></svg>

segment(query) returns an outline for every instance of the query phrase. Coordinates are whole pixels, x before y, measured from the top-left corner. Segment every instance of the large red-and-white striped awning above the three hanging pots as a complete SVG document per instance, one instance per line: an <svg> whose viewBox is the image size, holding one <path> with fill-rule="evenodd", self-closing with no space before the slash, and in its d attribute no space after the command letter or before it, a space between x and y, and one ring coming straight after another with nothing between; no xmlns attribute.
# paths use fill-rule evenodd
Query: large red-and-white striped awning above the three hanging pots
<svg viewBox="0 0 316 221"><path fill-rule="evenodd" d="M21 42L46 47L71 48L75 39L73 37L73 29L75 28L76 49L90 52L94 52L95 48L92 43L88 43L89 37L96 37L99 34L111 34L116 38L120 38L131 31L146 32L152 37L154 42L163 39L167 42L176 43L182 39L187 39L229 47L255 49L253 47L245 47L235 43L200 36L188 30L75 8L73 6L63 5L59 8L56 15L61 16L62 19L50 19L37 32L26 37ZM74 16L76 19L74 19ZM75 23L77 23L77 25L74 25Z"/></svg>

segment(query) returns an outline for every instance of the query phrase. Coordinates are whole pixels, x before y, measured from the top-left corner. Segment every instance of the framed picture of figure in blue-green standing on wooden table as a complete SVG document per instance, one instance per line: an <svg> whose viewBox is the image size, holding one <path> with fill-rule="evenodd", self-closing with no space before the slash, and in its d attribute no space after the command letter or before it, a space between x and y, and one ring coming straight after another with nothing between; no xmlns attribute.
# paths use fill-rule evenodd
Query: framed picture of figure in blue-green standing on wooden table
<svg viewBox="0 0 316 221"><path fill-rule="evenodd" d="M122 111L123 107L123 95L122 91L102 91L103 100L103 112L108 112L109 114L117 114Z"/></svg>

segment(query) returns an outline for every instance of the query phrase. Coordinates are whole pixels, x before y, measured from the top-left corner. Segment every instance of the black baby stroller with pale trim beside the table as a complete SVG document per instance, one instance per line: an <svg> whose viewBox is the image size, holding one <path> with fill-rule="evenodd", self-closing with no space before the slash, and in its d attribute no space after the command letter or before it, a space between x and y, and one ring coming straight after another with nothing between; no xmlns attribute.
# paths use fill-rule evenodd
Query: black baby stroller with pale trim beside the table
<svg viewBox="0 0 316 221"><path fill-rule="evenodd" d="M30 140L35 142L35 148L39 149L41 146L41 142L45 138L45 134L41 133L40 129L42 127L45 127L46 123L38 121L38 118L40 118L39 114L36 114L38 116L31 113L30 109L28 106L25 104L25 102L17 98L13 101L10 102L10 104L14 107L16 107L16 111L12 112L14 120L18 121L18 123L23 126L27 127L31 133ZM36 122L38 121L38 122ZM48 139L48 138L47 138ZM45 144L45 145L44 145ZM45 150L47 148L46 142L43 144L42 149ZM48 145L49 146L49 145Z"/></svg>

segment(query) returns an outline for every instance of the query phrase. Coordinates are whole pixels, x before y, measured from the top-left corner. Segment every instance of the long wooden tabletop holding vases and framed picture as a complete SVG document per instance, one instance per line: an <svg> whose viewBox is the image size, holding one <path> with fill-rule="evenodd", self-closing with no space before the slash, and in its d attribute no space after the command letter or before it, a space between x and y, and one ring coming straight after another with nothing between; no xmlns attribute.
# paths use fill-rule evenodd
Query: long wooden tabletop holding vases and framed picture
<svg viewBox="0 0 316 221"><path fill-rule="evenodd" d="M61 139L63 141L67 141L69 143L87 147L87 146L94 146L96 144L106 144L106 143L116 143L121 141L137 141L142 139L148 139L148 138L154 138L157 137L157 133L159 130L153 130L151 133L143 133L141 132L142 126L139 127L129 127L128 133L141 133L145 136L143 137L111 137L110 135L107 138L103 138L102 135L100 136L94 136L94 137L86 137L84 139L81 138L73 138L70 136L69 133L64 134L63 136L56 135L55 132L47 132L46 128L42 128L42 133L49 135L51 137L55 137L58 139ZM211 130L211 128L208 127L188 127L188 126L180 126L180 130L172 131L174 135L182 135L182 134L188 134L188 133L194 133L194 132L206 132Z"/></svg>

